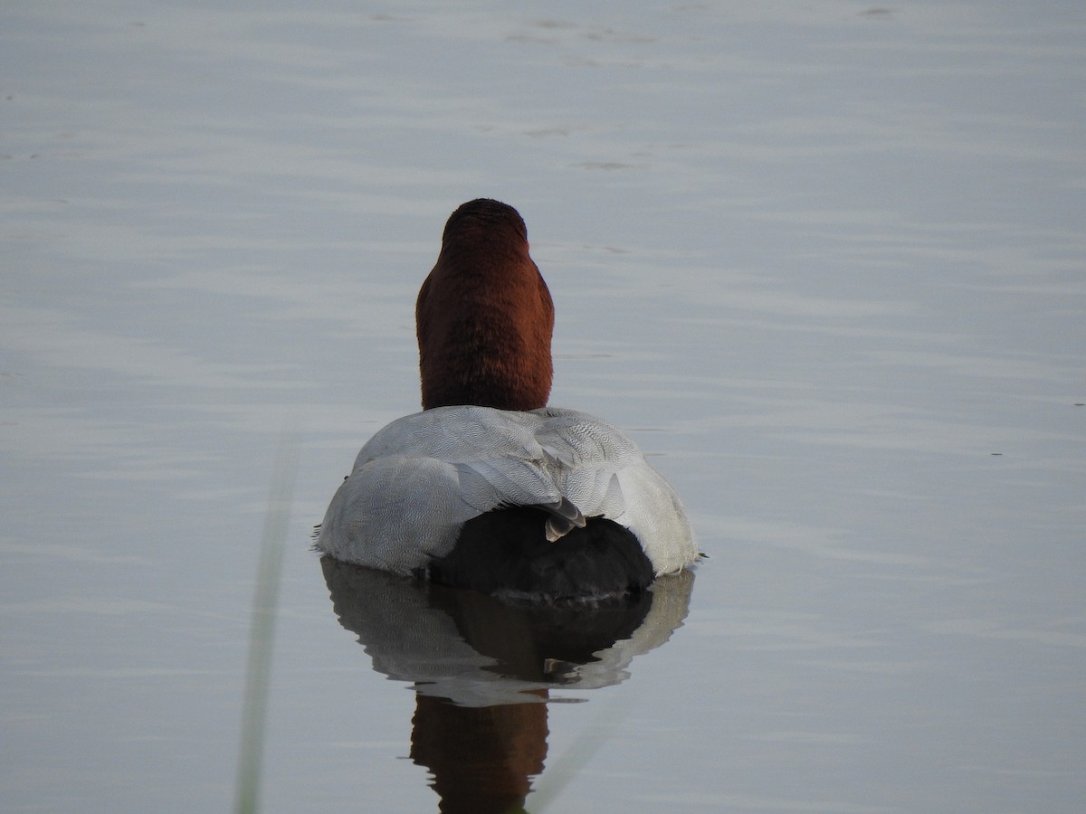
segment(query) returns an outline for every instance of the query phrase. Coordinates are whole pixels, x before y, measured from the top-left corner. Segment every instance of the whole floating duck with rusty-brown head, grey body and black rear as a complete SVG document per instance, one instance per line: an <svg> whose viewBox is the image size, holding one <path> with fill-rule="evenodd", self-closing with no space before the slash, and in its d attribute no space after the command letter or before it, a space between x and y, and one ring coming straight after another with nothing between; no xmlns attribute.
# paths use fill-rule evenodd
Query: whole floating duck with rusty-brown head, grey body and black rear
<svg viewBox="0 0 1086 814"><path fill-rule="evenodd" d="M679 495L613 424L547 405L554 303L510 205L445 222L415 304L420 412L358 453L314 548L508 601L641 595L698 560Z"/></svg>

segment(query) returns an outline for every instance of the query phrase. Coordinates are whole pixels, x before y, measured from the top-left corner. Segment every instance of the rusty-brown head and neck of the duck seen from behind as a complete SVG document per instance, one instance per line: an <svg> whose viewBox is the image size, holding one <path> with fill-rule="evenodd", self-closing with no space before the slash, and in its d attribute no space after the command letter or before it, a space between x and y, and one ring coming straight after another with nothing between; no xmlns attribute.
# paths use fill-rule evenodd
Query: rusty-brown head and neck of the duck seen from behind
<svg viewBox="0 0 1086 814"><path fill-rule="evenodd" d="M415 321L424 409L546 406L554 305L512 206L480 198L450 216Z"/></svg>

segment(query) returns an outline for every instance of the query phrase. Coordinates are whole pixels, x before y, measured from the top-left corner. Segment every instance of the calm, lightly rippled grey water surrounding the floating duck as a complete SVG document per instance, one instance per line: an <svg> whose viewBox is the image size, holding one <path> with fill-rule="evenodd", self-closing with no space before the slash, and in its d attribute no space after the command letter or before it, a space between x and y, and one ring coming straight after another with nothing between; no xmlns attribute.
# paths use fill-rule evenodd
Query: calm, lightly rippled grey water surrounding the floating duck
<svg viewBox="0 0 1086 814"><path fill-rule="evenodd" d="M0 809L229 809L286 429L266 811L1082 811L1082 3L302 8L0 9ZM307 550L479 195L709 555L565 686Z"/></svg>

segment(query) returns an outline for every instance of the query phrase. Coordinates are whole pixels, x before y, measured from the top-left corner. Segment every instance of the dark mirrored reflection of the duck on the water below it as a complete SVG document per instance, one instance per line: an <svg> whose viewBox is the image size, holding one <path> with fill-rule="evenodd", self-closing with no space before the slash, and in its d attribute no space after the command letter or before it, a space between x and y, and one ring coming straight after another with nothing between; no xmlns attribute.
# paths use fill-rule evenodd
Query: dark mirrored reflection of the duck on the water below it
<svg viewBox="0 0 1086 814"><path fill-rule="evenodd" d="M551 690L594 689L629 677L630 662L671 636L690 607L694 574L662 576L627 602L516 606L478 592L320 560L340 623L374 670L412 683L411 756L426 766L440 811L523 810L547 750Z"/></svg>

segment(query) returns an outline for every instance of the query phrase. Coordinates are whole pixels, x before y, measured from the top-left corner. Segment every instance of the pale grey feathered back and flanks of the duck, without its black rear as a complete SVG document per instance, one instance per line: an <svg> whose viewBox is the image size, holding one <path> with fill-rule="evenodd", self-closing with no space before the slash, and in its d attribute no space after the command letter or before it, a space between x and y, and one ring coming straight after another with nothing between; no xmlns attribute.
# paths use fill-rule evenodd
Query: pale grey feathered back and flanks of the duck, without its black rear
<svg viewBox="0 0 1086 814"><path fill-rule="evenodd" d="M444 562L444 572L430 572L440 578L462 568L450 564L460 559L450 559L459 542L463 555L472 535L504 529L512 539L519 524L531 527L530 512L517 512L516 524L508 512L498 519L510 507L535 507L542 539L548 512L568 519L567 527L591 518L614 521L640 545L649 580L697 555L678 496L636 445L598 418L558 408L439 407L393 421L358 454L328 507L316 547L405 575ZM494 517L473 520L484 514ZM622 534L595 525L590 522L591 534L578 527L547 545L561 552L559 561L574 545L599 547L613 536L627 547Z"/></svg>

